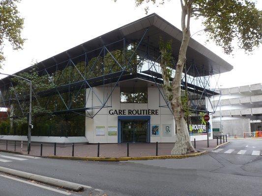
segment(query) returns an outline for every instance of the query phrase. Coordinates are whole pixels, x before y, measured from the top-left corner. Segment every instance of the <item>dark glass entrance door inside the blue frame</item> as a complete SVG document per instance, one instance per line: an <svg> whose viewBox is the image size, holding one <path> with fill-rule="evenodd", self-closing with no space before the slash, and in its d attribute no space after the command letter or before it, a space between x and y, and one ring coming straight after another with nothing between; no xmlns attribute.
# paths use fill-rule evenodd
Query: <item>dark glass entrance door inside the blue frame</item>
<svg viewBox="0 0 262 196"><path fill-rule="evenodd" d="M147 120L121 120L121 142L147 142Z"/></svg>

